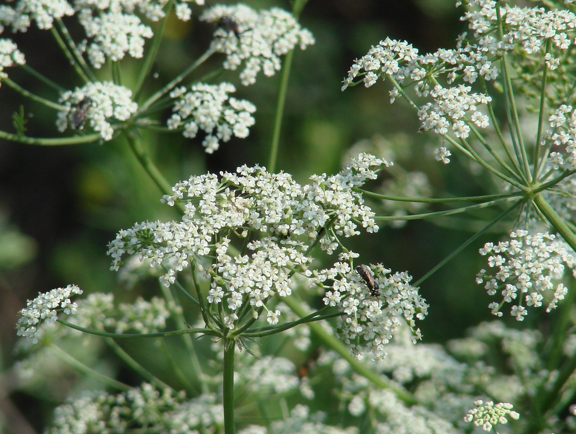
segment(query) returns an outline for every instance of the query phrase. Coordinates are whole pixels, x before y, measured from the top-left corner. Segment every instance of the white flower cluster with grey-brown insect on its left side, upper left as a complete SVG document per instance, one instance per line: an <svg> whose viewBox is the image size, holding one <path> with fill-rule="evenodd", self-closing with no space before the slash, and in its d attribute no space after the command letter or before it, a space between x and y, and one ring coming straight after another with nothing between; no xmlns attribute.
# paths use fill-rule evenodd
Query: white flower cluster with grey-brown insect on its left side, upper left
<svg viewBox="0 0 576 434"><path fill-rule="evenodd" d="M73 118L86 98L89 98L89 104L86 104L82 122L78 125ZM112 123L130 119L138 109L138 104L132 101L132 91L112 82L90 82L74 91L68 90L60 96L60 104L65 105L66 109L58 112L56 126L59 131L65 131L69 126L79 128L88 124L94 131L100 132L103 140L112 140Z"/></svg>

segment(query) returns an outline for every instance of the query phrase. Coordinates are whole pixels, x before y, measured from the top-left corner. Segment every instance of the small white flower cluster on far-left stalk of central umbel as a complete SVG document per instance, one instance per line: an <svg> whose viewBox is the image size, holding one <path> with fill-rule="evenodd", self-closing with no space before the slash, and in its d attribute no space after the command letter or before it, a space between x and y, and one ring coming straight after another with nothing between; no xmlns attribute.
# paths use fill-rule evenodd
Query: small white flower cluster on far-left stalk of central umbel
<svg viewBox="0 0 576 434"><path fill-rule="evenodd" d="M58 310L62 310L67 315L77 313L78 304L70 300L74 294L82 294L82 290L76 285L68 285L66 288L55 288L44 294L39 292L35 299L28 300L26 307L20 310L20 317L16 323L18 336L36 343L40 323L55 322L58 318Z"/></svg>

